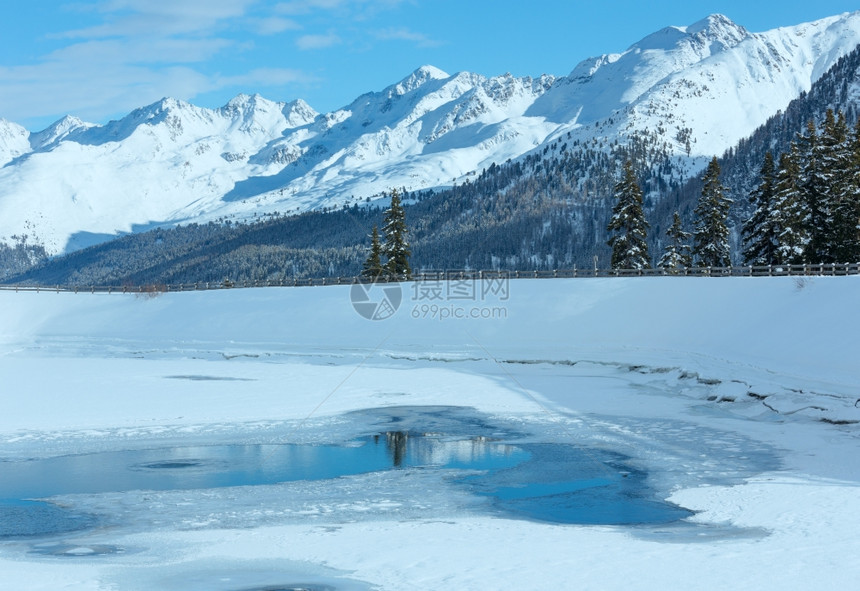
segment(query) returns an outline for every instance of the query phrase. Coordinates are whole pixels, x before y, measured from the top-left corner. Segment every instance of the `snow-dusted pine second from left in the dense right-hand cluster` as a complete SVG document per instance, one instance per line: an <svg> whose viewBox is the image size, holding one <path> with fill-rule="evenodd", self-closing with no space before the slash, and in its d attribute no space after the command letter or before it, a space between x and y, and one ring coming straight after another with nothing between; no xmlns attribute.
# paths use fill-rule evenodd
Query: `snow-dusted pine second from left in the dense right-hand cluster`
<svg viewBox="0 0 860 591"><path fill-rule="evenodd" d="M777 247L776 265L792 265L803 261L803 251L809 237L803 225L805 201L800 188L800 153L792 143L790 151L779 157L779 169L774 184L773 225Z"/></svg>

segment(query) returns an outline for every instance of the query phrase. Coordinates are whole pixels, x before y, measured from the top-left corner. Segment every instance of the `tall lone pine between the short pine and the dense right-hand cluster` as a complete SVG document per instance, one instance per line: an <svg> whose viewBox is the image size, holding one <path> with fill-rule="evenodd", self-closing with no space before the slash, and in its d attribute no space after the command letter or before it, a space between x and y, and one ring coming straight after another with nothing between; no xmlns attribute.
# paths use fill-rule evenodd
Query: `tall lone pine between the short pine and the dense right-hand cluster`
<svg viewBox="0 0 860 591"><path fill-rule="evenodd" d="M694 213L696 221L693 233L693 256L703 267L728 267L731 265L729 251L729 229L726 220L732 200L726 197L720 184L720 164L717 157L708 164L704 187Z"/></svg>

